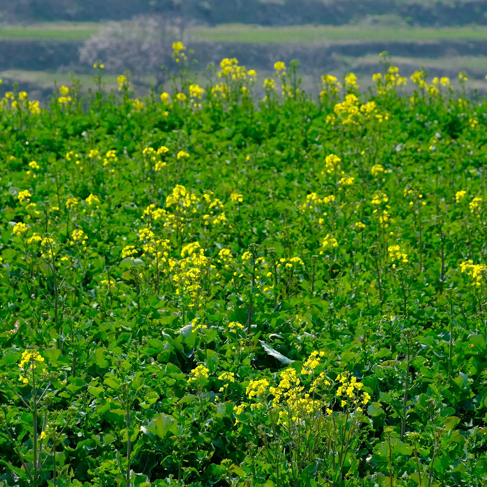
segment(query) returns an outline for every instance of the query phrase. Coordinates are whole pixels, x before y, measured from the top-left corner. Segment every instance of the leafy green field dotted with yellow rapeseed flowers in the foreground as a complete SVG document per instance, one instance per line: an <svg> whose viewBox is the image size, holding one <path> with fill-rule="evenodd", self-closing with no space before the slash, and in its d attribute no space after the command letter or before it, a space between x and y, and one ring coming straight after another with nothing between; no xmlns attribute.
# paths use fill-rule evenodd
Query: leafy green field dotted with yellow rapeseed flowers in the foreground
<svg viewBox="0 0 487 487"><path fill-rule="evenodd" d="M0 486L486 486L486 98L173 48L0 101Z"/></svg>

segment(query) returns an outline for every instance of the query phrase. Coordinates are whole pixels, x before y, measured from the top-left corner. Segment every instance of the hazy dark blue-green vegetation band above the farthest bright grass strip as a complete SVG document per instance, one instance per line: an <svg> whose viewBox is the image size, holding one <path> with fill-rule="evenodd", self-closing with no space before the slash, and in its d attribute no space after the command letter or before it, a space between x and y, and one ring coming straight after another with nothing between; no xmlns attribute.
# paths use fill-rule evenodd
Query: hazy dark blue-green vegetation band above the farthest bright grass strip
<svg viewBox="0 0 487 487"><path fill-rule="evenodd" d="M394 22L395 17L412 25L446 26L486 24L487 0L0 0L0 13L7 22L121 20L163 13L210 25L340 25Z"/></svg>

